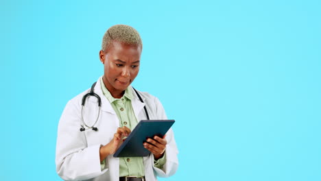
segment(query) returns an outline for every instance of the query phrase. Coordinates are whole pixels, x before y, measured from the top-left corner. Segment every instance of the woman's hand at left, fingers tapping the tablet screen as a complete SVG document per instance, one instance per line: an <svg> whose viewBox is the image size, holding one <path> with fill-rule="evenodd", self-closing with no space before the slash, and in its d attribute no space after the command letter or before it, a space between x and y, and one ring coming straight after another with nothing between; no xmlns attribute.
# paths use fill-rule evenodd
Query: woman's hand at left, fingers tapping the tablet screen
<svg viewBox="0 0 321 181"><path fill-rule="evenodd" d="M100 147L100 161L102 162L102 160L104 160L110 154L115 154L116 150L120 147L121 143L123 143L123 138L128 136L130 132L130 129L126 126L118 128L112 140L107 145Z"/></svg>

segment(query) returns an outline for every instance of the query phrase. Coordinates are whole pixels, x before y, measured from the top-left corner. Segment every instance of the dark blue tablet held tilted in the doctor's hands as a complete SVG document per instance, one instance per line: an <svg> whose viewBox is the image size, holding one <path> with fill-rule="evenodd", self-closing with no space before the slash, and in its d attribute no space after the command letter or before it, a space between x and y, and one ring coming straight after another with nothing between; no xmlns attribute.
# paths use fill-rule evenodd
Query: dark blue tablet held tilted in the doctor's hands
<svg viewBox="0 0 321 181"><path fill-rule="evenodd" d="M142 120L134 130L128 135L126 140L121 144L114 154L114 157L141 157L148 156L150 151L145 149L143 143L147 138L160 136L161 138L167 133L174 120Z"/></svg>

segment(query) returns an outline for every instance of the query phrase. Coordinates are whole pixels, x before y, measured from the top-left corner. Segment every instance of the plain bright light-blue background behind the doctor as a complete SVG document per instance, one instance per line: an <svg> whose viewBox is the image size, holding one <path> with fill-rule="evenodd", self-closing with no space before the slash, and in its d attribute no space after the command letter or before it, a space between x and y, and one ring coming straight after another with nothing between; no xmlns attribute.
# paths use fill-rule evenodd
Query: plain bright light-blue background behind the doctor
<svg viewBox="0 0 321 181"><path fill-rule="evenodd" d="M1 180L61 180L57 125L103 67L108 27L143 38L133 85L180 150L160 180L321 180L320 1L1 1Z"/></svg>

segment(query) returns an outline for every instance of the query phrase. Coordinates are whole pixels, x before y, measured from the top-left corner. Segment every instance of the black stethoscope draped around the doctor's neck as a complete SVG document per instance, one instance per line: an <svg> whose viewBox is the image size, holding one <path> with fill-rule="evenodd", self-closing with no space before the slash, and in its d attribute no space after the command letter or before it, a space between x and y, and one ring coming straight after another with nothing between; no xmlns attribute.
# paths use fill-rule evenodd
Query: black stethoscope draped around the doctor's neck
<svg viewBox="0 0 321 181"><path fill-rule="evenodd" d="M81 125L81 128L80 128L80 132L83 132L84 130L94 130L95 132L98 131L98 128L95 127L95 124L97 123L98 119L99 119L99 113L100 113L100 106L102 106L102 99L100 99L99 95L97 95L96 93L94 93L94 88L95 88L95 85L96 85L97 82L93 83L93 86L91 86L91 91L89 93L86 93L86 95L84 95L84 97L82 97L82 125ZM133 88L134 89L134 88ZM136 95L139 97L139 100L144 103L143 99L141 99L141 95L139 95L139 93L137 92L136 89L135 90L135 93ZM98 116L97 116L97 119L95 121L95 123L93 123L93 125L89 126L86 124L86 122L84 121L84 116L83 116L83 110L84 110L84 104L86 102L86 99L89 97L89 96L94 96L97 98L97 102L98 102ZM147 120L150 120L150 117L148 116L148 112L147 112L147 109L146 109L146 106L144 106L144 110L145 110L145 114L146 114L146 117L147 117ZM86 127L86 128L85 128Z"/></svg>

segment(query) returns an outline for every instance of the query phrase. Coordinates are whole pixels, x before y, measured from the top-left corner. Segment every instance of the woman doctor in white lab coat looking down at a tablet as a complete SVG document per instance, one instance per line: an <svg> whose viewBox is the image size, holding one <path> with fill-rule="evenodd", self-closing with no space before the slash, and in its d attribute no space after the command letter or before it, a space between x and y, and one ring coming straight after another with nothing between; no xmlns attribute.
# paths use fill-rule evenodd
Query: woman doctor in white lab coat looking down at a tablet
<svg viewBox="0 0 321 181"><path fill-rule="evenodd" d="M156 97L136 93L130 86L139 73L141 51L141 37L134 28L115 25L107 30L99 51L104 75L93 86L93 92L101 98L100 108L97 98L90 96L82 113L82 97L91 91L89 88L67 103L59 121L56 171L62 179L154 181L156 176L169 177L176 172L178 149L171 129L164 138L147 139L144 147L150 150L150 156L112 156L147 114L150 119L167 119Z"/></svg>

